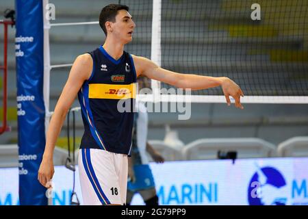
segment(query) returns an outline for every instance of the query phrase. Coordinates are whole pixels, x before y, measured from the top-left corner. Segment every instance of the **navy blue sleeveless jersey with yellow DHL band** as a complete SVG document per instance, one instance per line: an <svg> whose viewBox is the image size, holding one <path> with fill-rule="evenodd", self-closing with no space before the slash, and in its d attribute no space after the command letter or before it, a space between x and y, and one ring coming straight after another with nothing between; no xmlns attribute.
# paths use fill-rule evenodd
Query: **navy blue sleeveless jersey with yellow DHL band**
<svg viewBox="0 0 308 219"><path fill-rule="evenodd" d="M81 149L131 153L136 70L124 51L114 60L103 47L90 52L93 70L78 92L84 135Z"/></svg>

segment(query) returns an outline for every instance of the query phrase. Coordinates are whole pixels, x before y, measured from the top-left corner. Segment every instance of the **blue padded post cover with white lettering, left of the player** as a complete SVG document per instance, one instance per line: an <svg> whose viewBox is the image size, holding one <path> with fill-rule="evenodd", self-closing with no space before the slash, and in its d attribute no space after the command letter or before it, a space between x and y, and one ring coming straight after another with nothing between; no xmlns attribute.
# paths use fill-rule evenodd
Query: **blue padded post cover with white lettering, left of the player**
<svg viewBox="0 0 308 219"><path fill-rule="evenodd" d="M38 182L45 145L42 1L16 0L15 5L19 201L47 205L46 189Z"/></svg>

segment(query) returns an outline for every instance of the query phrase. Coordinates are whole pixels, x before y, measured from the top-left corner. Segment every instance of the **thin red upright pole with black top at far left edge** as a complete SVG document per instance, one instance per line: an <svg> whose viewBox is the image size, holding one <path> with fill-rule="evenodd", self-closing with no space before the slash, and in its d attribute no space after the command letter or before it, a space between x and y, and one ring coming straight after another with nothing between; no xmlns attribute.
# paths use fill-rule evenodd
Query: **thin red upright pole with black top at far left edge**
<svg viewBox="0 0 308 219"><path fill-rule="evenodd" d="M2 126L0 127L0 135L5 131L10 131L10 127L7 124L8 113L8 25L12 27L15 24L14 10L7 9L4 12L5 18L10 20L0 20L0 25L3 25L3 65L0 65L0 69L3 70L3 112L2 112Z"/></svg>

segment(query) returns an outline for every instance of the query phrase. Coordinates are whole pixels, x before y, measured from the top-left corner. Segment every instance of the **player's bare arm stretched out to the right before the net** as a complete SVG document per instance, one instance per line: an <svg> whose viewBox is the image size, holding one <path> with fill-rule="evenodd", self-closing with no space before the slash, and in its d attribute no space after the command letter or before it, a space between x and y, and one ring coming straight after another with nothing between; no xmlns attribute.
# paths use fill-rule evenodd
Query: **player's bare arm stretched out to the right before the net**
<svg viewBox="0 0 308 219"><path fill-rule="evenodd" d="M235 107L244 109L240 103L240 96L244 96L241 88L228 77L209 77L202 75L188 75L175 73L157 66L145 57L133 55L133 62L137 76L145 76L150 79L168 83L177 88L190 88L192 90L202 90L222 86L222 91L228 105L231 104L229 96L235 99Z"/></svg>

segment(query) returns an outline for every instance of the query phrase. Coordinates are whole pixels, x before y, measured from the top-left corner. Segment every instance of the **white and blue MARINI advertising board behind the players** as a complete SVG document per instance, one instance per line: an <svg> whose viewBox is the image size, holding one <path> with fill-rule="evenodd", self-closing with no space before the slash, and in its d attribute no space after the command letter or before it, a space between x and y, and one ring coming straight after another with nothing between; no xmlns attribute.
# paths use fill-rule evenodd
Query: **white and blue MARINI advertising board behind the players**
<svg viewBox="0 0 308 219"><path fill-rule="evenodd" d="M308 205L308 157L150 163L159 205ZM77 168L77 166L76 166ZM0 168L0 205L18 205L17 168ZM75 192L82 202L78 169ZM144 181L149 181L144 177ZM53 205L70 205L73 172L55 166ZM135 194L131 205L144 205Z"/></svg>

